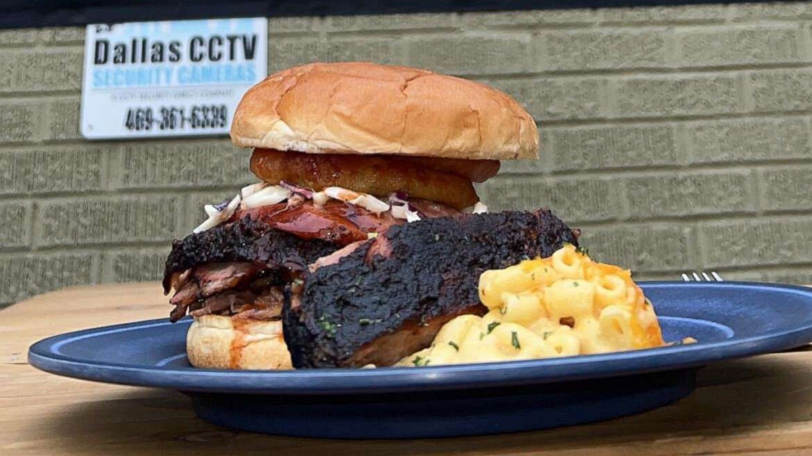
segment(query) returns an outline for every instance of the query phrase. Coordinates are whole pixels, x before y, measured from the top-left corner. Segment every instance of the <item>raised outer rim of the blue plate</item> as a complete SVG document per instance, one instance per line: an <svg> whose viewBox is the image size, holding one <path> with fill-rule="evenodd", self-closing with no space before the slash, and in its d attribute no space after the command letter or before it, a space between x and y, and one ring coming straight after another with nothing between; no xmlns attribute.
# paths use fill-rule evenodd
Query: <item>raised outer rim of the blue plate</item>
<svg viewBox="0 0 812 456"><path fill-rule="evenodd" d="M678 281L638 282L645 288L675 286ZM774 288L800 293L812 300L812 289L762 282L688 282L692 286ZM306 369L295 371L231 371L201 368L153 368L108 364L59 355L59 342L87 334L145 325L171 325L166 319L143 320L63 333L34 343L28 351L32 366L58 375L123 385L152 386L189 391L244 394L350 394L416 390L490 388L578 381L610 376L693 368L721 359L735 359L781 351L812 341L812 320L793 329L683 346L667 346L601 355L555 359L529 359L484 364L457 364L425 368ZM652 361L667 359L664 364ZM618 363L624 361L624 363ZM629 362L641 366L629 369ZM646 367L643 367L645 365ZM566 368L567 373L556 373ZM476 372L476 375L461 375ZM265 380L262 382L259 380Z"/></svg>

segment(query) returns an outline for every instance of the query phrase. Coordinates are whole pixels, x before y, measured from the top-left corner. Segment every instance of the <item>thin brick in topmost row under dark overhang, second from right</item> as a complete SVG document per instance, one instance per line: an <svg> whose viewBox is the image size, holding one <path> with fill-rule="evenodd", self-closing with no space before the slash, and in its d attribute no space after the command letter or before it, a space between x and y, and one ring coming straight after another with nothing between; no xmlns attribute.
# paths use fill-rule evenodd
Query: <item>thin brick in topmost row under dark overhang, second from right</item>
<svg viewBox="0 0 812 456"><path fill-rule="evenodd" d="M727 5L646 6L602 8L603 21L619 24L723 22Z"/></svg>

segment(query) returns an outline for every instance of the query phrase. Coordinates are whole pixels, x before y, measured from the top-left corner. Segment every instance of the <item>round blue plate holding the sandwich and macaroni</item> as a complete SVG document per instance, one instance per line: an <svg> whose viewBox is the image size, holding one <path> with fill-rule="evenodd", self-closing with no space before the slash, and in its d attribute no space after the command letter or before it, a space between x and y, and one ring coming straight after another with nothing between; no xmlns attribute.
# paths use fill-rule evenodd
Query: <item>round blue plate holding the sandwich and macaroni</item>
<svg viewBox="0 0 812 456"><path fill-rule="evenodd" d="M451 437L608 419L689 394L696 368L812 341L812 290L644 282L663 336L699 343L607 355L427 368L287 372L192 368L190 320L88 329L34 344L30 363L93 381L184 391L231 428L341 438ZM110 303L114 305L114 303Z"/></svg>

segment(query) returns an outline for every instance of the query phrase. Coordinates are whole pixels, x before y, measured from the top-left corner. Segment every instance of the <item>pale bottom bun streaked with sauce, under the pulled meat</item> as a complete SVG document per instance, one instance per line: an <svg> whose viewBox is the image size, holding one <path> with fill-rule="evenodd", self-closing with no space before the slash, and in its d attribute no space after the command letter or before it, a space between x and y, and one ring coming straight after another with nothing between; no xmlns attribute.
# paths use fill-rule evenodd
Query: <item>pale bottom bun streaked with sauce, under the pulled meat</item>
<svg viewBox="0 0 812 456"><path fill-rule="evenodd" d="M186 333L186 354L196 368L291 369L281 321L195 317Z"/></svg>

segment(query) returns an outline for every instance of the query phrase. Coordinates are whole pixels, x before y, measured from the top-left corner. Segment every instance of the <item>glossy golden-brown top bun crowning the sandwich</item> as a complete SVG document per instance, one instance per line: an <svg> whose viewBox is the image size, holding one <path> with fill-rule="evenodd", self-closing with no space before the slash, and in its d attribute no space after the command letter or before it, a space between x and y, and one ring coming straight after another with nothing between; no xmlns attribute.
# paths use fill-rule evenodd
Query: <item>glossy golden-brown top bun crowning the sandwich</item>
<svg viewBox="0 0 812 456"><path fill-rule="evenodd" d="M538 157L538 130L495 88L369 62L311 63L248 89L234 144L305 153L512 160Z"/></svg>

